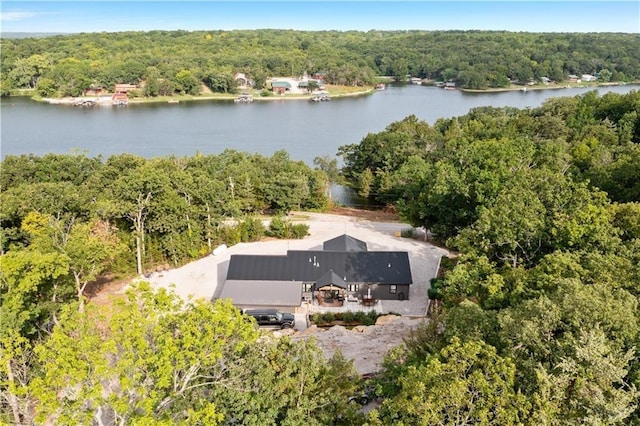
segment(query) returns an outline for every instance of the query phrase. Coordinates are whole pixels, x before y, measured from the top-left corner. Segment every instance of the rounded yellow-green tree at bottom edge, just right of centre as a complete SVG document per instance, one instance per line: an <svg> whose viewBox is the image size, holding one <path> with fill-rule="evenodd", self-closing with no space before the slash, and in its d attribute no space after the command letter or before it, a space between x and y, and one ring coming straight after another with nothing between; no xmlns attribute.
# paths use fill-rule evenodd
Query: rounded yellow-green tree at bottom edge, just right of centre
<svg viewBox="0 0 640 426"><path fill-rule="evenodd" d="M372 423L519 424L530 409L515 390L515 365L483 342L454 338L399 381L400 391L382 403Z"/></svg>

